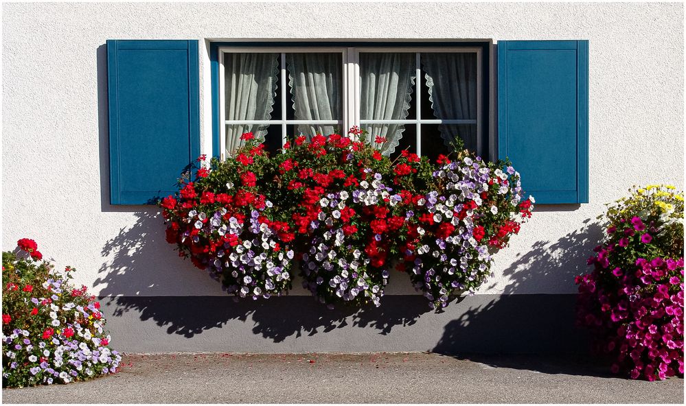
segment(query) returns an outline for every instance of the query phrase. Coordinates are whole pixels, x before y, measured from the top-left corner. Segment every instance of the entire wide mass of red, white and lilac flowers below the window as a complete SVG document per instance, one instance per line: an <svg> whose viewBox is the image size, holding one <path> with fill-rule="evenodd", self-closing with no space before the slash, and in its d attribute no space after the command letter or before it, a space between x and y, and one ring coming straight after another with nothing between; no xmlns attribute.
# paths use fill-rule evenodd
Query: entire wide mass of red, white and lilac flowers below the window
<svg viewBox="0 0 686 406"><path fill-rule="evenodd" d="M489 247L506 246L531 215L512 167L466 152L438 168L407 151L391 162L358 128L299 136L272 157L243 139L233 159L201 165L161 202L168 241L238 296L284 293L299 261L319 302L379 306L391 259L402 259L441 308L483 282Z"/></svg>

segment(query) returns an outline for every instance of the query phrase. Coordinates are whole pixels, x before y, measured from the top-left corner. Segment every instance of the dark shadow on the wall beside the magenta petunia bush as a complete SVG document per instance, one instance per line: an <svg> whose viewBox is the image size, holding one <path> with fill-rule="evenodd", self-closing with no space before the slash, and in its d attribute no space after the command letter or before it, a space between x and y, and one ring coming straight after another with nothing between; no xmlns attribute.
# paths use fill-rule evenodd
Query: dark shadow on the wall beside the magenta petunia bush
<svg viewBox="0 0 686 406"><path fill-rule="evenodd" d="M562 348L569 348L566 351L568 355L588 353L588 335L574 325L576 294L514 294L535 291L536 286L545 285L547 280L562 281L565 285L573 286L575 276L589 271L586 259L598 245L602 228L595 222L591 223L590 219L584 223L584 228L571 232L555 243L538 241L529 252L518 256L503 272L503 276L510 279L503 296L488 304L467 309L457 320L448 322L433 352L464 357L460 349L474 348L470 342L478 339L481 347L499 348L502 353L520 353L519 349L529 348L531 342L538 346L538 353L564 356L560 353L562 343ZM499 326L499 333L483 335L488 326ZM467 358L492 366L531 369L531 365L512 358L507 359L506 363L490 355L482 357L472 354ZM555 370L573 373L573 366L565 364L551 363L534 369L549 373L556 373ZM587 372L584 370L584 373Z"/></svg>

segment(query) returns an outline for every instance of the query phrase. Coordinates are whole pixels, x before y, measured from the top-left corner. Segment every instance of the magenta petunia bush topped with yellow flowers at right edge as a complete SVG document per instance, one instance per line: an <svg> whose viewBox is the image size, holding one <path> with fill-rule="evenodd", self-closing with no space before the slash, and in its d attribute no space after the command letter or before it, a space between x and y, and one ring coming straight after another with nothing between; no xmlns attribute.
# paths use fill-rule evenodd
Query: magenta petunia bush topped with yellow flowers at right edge
<svg viewBox="0 0 686 406"><path fill-rule="evenodd" d="M606 237L578 276L578 322L613 372L683 375L683 194L650 185L608 207Z"/></svg>

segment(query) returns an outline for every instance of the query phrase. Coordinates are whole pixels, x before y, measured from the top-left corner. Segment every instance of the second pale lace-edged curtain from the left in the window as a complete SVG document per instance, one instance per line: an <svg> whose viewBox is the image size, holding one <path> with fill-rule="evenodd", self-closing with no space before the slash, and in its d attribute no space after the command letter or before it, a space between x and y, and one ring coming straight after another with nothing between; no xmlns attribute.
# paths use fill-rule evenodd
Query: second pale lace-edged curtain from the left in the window
<svg viewBox="0 0 686 406"><path fill-rule="evenodd" d="M343 119L343 60L341 53L287 53L288 87L296 120ZM331 134L331 126L302 126L312 137Z"/></svg>

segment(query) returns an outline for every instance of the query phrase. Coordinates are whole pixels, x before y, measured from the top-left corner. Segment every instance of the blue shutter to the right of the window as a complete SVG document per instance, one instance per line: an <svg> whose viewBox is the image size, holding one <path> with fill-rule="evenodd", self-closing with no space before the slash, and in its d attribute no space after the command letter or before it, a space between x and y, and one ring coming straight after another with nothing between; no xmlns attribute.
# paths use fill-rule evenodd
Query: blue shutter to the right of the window
<svg viewBox="0 0 686 406"><path fill-rule="evenodd" d="M498 155L536 203L588 203L588 41L498 42Z"/></svg>

